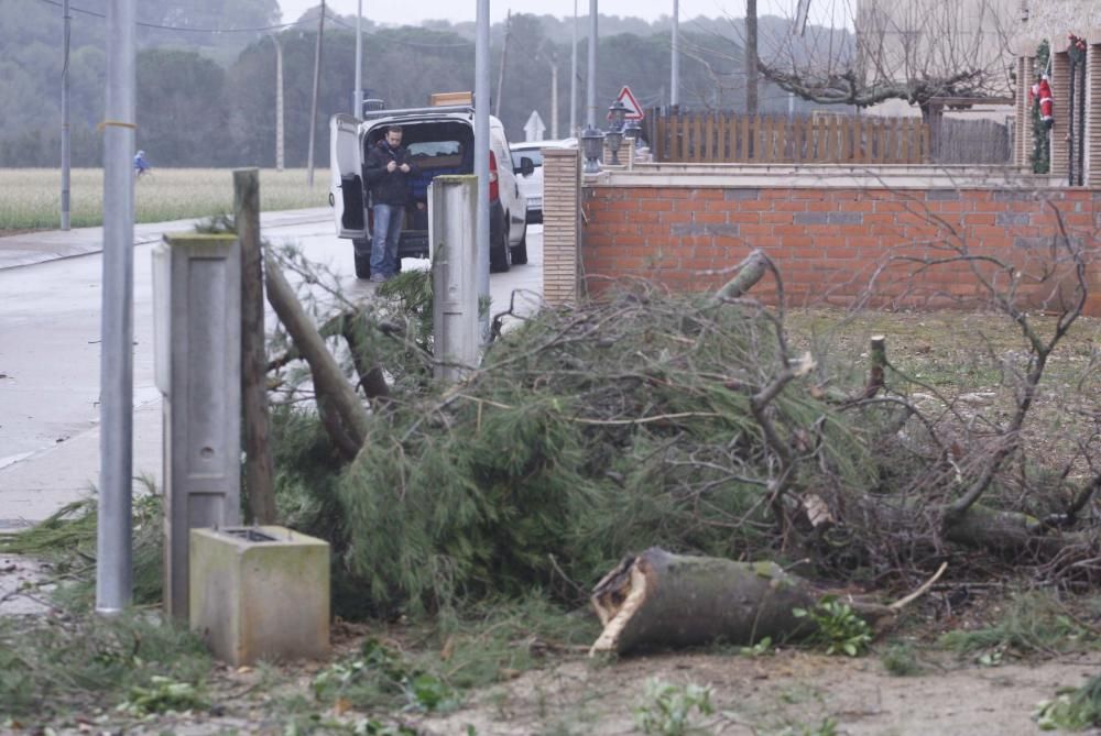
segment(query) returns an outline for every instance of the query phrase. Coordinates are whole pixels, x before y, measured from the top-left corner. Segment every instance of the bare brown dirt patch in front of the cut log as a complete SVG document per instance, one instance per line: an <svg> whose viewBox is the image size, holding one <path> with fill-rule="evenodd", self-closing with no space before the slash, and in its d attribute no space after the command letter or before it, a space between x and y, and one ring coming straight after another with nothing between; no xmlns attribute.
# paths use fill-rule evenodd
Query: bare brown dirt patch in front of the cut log
<svg viewBox="0 0 1101 736"><path fill-rule="evenodd" d="M715 714L698 733L817 734L824 721L853 736L1016 736L1039 733L1034 705L1056 688L1080 685L1098 671L1095 656L991 668L944 659L914 677L893 677L874 657L848 659L782 651L746 659L668 653L595 666L560 662L479 694L472 704L419 724L426 734L640 733L633 712L650 678L712 689ZM785 730L789 729L789 730ZM830 733L830 732L827 732Z"/></svg>

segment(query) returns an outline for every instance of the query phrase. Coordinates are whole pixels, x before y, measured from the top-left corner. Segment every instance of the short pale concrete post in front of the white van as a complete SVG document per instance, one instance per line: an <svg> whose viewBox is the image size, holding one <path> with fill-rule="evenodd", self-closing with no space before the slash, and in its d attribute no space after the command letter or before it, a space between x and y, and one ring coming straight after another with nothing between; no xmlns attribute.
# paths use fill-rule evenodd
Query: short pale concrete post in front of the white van
<svg viewBox="0 0 1101 736"><path fill-rule="evenodd" d="M428 186L436 377L447 382L478 365L477 197L477 176L437 176Z"/></svg>

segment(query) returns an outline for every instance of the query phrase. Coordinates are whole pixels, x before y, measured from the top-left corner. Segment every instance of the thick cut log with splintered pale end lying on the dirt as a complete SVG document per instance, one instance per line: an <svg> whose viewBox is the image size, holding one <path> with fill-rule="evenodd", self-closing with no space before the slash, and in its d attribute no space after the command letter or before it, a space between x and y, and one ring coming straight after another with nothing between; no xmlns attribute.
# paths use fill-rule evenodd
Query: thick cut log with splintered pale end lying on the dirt
<svg viewBox="0 0 1101 736"><path fill-rule="evenodd" d="M624 559L593 589L604 630L589 653L806 636L813 625L792 611L817 600L807 581L773 562L687 557L653 547Z"/></svg>

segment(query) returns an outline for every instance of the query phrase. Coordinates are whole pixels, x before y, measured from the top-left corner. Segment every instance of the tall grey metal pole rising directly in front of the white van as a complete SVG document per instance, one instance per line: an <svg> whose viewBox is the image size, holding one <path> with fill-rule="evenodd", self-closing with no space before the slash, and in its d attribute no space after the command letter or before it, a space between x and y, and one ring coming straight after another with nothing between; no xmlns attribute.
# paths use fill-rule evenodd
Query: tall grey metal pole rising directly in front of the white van
<svg viewBox="0 0 1101 736"><path fill-rule="evenodd" d="M478 177L478 298L489 299L489 0L478 0L475 45L475 176ZM506 166L511 162L498 162ZM479 315L482 341L489 315Z"/></svg>

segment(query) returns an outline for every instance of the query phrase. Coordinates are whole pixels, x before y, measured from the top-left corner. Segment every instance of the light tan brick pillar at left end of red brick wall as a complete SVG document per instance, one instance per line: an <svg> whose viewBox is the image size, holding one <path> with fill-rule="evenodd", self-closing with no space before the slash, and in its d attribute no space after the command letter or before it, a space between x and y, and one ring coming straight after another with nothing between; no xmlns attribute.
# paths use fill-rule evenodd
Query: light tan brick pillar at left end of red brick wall
<svg viewBox="0 0 1101 736"><path fill-rule="evenodd" d="M576 304L581 271L581 158L576 149L543 150L543 299Z"/></svg>

